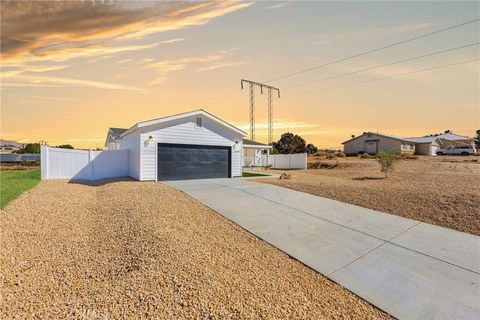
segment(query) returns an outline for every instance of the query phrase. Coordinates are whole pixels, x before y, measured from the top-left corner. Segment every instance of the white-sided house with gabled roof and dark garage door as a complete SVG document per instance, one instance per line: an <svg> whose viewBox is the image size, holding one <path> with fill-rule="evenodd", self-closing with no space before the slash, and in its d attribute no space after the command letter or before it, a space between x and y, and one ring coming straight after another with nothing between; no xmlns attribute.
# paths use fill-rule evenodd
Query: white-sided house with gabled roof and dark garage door
<svg viewBox="0 0 480 320"><path fill-rule="evenodd" d="M137 180L226 178L242 175L246 135L200 109L110 128L105 146L128 149L128 174Z"/></svg>

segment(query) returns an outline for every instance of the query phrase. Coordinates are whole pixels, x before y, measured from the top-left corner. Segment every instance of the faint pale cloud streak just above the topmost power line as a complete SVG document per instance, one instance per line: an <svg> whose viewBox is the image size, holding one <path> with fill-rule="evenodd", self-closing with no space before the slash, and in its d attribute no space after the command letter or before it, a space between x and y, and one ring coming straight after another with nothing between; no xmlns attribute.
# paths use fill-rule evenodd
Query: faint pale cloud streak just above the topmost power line
<svg viewBox="0 0 480 320"><path fill-rule="evenodd" d="M298 39L294 41L293 44L328 45L348 40L374 40L383 38L390 34L420 30L429 26L431 26L431 23L421 23L415 25L404 25L387 28L361 29L335 34L318 34Z"/></svg>

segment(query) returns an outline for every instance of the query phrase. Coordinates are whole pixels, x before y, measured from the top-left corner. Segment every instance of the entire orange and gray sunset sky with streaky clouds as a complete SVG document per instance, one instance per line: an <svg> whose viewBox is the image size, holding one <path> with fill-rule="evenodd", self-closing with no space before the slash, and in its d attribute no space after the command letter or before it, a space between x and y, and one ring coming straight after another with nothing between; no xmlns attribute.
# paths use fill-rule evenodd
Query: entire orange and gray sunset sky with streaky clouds
<svg viewBox="0 0 480 320"><path fill-rule="evenodd" d="M478 19L479 10L476 1L2 1L1 137L102 147L108 127L198 108L247 131L242 78L280 88L275 139L290 131L339 148L363 131L473 136L480 127L479 61L471 61L479 57L478 21L269 81ZM347 86L464 61L471 62ZM266 105L258 92L263 142Z"/></svg>

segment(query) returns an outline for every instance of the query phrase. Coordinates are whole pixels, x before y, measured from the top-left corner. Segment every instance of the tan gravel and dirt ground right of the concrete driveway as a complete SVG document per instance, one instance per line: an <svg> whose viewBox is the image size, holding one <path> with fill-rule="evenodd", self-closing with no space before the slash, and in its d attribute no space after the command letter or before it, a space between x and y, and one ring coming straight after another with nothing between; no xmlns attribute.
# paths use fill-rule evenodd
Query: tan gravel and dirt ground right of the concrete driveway
<svg viewBox="0 0 480 320"><path fill-rule="evenodd" d="M290 180L256 181L480 235L479 157L404 160L388 179L375 160L310 160L333 169L289 171Z"/></svg>

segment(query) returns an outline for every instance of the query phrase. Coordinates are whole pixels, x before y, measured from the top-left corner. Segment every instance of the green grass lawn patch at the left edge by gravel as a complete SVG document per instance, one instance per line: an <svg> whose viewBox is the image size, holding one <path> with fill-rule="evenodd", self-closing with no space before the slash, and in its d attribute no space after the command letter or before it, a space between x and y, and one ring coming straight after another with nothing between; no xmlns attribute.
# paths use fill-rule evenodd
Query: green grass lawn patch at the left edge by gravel
<svg viewBox="0 0 480 320"><path fill-rule="evenodd" d="M0 170L0 209L40 182L40 169Z"/></svg>

